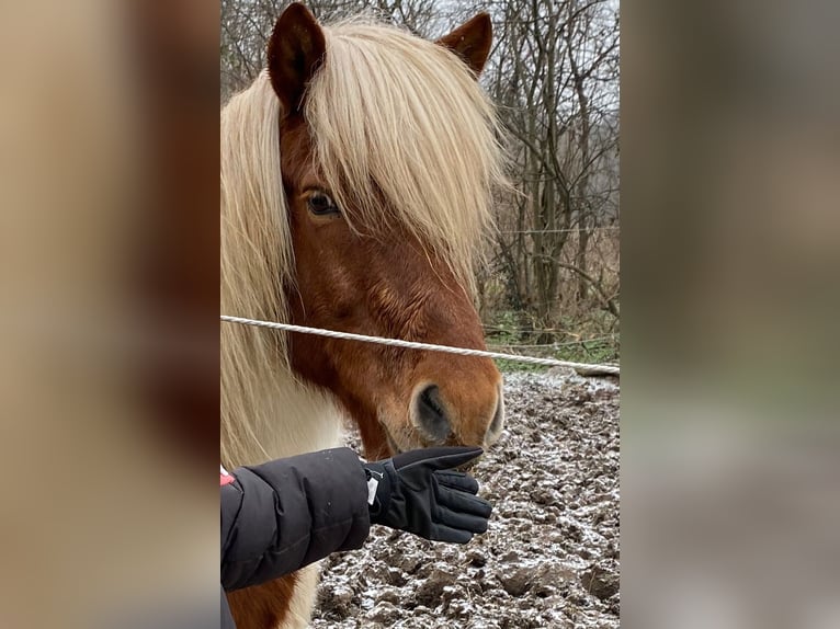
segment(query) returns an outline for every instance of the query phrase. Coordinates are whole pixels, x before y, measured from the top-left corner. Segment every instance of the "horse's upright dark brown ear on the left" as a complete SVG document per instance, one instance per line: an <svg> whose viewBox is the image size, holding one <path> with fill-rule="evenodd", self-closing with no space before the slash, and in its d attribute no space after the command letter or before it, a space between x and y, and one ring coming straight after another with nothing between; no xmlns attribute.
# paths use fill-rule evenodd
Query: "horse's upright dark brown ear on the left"
<svg viewBox="0 0 840 629"><path fill-rule="evenodd" d="M283 11L269 41L269 77L286 115L303 105L304 93L320 67L327 44L309 10L294 2Z"/></svg>

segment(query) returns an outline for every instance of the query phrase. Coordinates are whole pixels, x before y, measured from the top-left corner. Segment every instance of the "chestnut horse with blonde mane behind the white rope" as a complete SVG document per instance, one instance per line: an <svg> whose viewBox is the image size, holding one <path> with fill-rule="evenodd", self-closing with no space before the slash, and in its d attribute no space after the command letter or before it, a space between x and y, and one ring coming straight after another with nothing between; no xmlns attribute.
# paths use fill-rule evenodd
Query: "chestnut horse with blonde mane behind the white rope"
<svg viewBox="0 0 840 629"><path fill-rule="evenodd" d="M491 23L436 42L370 19L277 19L268 67L222 111L222 311L485 348L474 271L506 185L478 84ZM487 358L222 325L222 459L231 469L341 445L373 460L495 443ZM240 629L305 627L317 567L228 595Z"/></svg>

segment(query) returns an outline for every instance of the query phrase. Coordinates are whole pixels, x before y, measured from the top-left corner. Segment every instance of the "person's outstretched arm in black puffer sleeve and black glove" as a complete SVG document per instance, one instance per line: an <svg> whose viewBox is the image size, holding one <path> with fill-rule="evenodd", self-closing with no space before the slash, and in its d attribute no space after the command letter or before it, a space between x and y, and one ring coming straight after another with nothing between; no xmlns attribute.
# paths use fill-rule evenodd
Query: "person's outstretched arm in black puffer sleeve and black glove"
<svg viewBox="0 0 840 629"><path fill-rule="evenodd" d="M223 477L222 585L264 583L339 550L361 548L371 523L466 544L492 512L478 483L454 471L478 447L439 447L363 464L334 448Z"/></svg>

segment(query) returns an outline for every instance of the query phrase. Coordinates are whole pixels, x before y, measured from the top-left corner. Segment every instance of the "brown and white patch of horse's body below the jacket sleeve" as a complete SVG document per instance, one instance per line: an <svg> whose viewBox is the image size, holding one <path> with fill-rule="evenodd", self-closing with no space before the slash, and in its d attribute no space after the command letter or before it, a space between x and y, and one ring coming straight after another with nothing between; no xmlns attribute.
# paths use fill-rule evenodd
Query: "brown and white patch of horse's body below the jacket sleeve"
<svg viewBox="0 0 840 629"><path fill-rule="evenodd" d="M318 565L227 595L237 629L304 629L318 591Z"/></svg>

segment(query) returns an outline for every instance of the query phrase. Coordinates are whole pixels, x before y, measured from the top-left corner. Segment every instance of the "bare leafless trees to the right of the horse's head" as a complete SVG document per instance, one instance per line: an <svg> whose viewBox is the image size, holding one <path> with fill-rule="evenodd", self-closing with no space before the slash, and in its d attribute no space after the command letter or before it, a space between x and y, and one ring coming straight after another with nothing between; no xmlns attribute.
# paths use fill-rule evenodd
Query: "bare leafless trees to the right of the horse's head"
<svg viewBox="0 0 840 629"><path fill-rule="evenodd" d="M523 193L500 204L497 261L510 306L548 331L571 301L617 319L617 267L591 268L595 235L617 222L616 7L500 0L493 13L499 41L486 81Z"/></svg>

